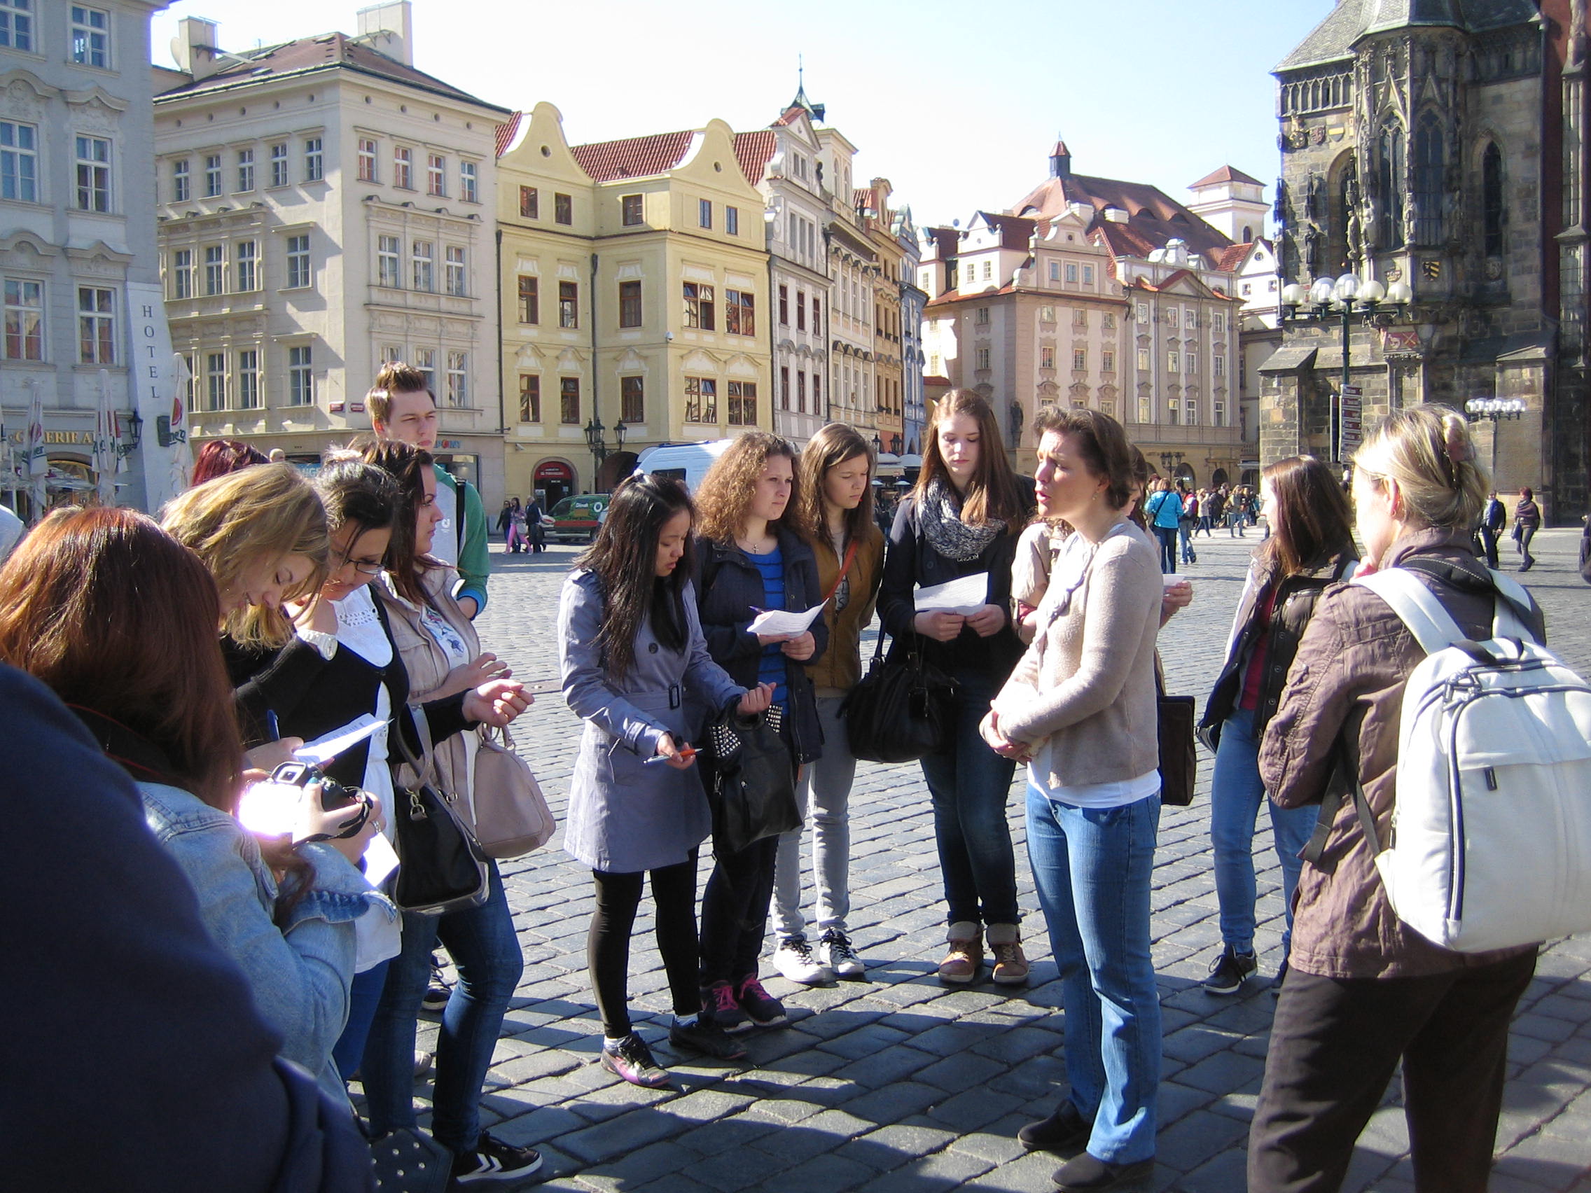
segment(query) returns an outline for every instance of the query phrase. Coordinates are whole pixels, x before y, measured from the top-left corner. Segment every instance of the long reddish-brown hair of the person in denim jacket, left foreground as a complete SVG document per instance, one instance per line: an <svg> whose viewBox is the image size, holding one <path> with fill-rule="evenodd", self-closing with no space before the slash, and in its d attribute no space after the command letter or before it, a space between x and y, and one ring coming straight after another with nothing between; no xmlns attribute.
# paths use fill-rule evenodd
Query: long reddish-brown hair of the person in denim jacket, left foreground
<svg viewBox="0 0 1591 1193"><path fill-rule="evenodd" d="M232 811L243 746L208 569L130 509L59 509L0 568L0 660L161 748Z"/></svg>

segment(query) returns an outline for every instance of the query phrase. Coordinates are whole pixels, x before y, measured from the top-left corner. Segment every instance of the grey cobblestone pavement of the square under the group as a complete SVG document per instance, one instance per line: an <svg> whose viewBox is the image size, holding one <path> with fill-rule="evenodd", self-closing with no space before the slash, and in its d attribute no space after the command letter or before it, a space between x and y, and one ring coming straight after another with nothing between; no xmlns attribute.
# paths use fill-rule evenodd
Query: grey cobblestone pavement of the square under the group
<svg viewBox="0 0 1591 1193"><path fill-rule="evenodd" d="M1161 633L1171 690L1203 700L1214 681L1255 541L1252 531L1198 539L1198 563L1187 568L1195 603ZM1575 531L1537 534L1540 563L1526 579L1546 608L1553 644L1591 674L1591 589L1575 569L1577 541ZM520 678L557 670L558 587L573 555L571 547L493 555L480 636ZM519 748L562 818L579 722L549 695L520 724ZM1265 983L1228 999L1200 988L1220 943L1208 756L1200 779L1195 805L1168 808L1160 822L1153 953L1165 1080L1158 1168L1144 1188L1236 1193L1274 1004ZM539 1147L541 1179L555 1190L1048 1190L1060 1161L1015 1142L1017 1128L1047 1115L1064 1083L1060 983L1020 843L1020 787L1010 821L1033 983L943 989L932 977L943 924L921 771L862 764L851 795L851 931L870 964L867 980L802 988L775 973L767 985L789 1007L791 1026L759 1032L738 1064L703 1064L670 1048L668 996L643 900L632 1001L638 1029L675 1074L676 1088L660 1091L625 1085L595 1063L601 1029L585 978L587 872L557 838L506 864L525 977L487 1078L490 1129ZM1263 818L1255 859L1258 948L1270 975L1282 907ZM434 1023L422 1029L434 1034ZM1508 1059L1491 1188L1591 1193L1591 937L1543 951ZM430 1085L417 1094L426 1098ZM1394 1090L1360 1139L1346 1188L1413 1190L1406 1145Z"/></svg>

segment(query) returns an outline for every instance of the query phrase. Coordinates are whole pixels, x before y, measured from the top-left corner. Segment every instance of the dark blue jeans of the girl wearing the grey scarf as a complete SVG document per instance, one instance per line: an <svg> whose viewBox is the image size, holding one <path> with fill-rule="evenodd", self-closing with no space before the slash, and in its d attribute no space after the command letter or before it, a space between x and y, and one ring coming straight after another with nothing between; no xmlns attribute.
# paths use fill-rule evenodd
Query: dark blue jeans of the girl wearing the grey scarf
<svg viewBox="0 0 1591 1193"><path fill-rule="evenodd" d="M945 881L948 919L955 924L1015 924L1017 856L1006 802L1012 759L1002 759L978 735L996 689L982 676L964 679L951 703L945 749L923 756L923 778L934 799L934 841Z"/></svg>

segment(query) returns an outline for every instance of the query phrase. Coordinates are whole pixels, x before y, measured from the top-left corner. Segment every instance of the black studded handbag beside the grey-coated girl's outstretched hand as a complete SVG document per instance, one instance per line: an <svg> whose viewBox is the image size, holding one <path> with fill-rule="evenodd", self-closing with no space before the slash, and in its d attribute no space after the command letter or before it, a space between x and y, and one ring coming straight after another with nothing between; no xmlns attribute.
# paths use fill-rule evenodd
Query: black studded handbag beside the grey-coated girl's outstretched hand
<svg viewBox="0 0 1591 1193"><path fill-rule="evenodd" d="M780 736L780 709L749 724L730 714L708 729L713 783L713 848L740 853L753 841L802 826L796 764Z"/></svg>

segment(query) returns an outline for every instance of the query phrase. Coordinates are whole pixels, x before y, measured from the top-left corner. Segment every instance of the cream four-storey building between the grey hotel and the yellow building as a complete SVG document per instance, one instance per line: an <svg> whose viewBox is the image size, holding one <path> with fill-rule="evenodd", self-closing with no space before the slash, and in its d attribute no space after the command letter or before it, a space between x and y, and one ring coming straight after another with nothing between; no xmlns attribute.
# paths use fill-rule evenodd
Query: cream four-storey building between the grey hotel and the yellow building
<svg viewBox="0 0 1591 1193"><path fill-rule="evenodd" d="M156 189L196 437L315 460L368 431L385 361L425 371L438 455L503 493L495 145L509 113L414 67L407 0L229 54L188 17L158 70Z"/></svg>

